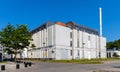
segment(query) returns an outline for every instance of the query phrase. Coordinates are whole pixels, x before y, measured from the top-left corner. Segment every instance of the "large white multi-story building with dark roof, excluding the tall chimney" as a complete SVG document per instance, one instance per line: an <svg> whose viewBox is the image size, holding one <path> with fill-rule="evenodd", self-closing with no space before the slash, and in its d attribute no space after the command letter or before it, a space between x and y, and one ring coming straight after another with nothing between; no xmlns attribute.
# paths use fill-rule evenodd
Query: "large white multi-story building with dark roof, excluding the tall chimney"
<svg viewBox="0 0 120 72"><path fill-rule="evenodd" d="M36 47L26 51L28 58L106 58L106 38L85 26L73 22L46 22L31 33L31 43Z"/></svg>

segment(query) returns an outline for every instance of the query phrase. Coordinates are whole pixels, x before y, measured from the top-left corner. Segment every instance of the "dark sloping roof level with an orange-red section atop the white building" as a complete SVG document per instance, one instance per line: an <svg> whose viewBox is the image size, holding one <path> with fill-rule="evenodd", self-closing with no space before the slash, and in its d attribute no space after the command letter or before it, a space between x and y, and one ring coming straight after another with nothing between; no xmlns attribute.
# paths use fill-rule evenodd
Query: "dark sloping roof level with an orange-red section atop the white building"
<svg viewBox="0 0 120 72"><path fill-rule="evenodd" d="M81 24L76 24L72 21L68 22L68 23L63 23L63 22L46 22L46 23L43 23L42 25L40 25L39 27L33 29L31 31L31 33L35 33L39 30L42 30L44 28L46 28L47 26L51 26L51 25L54 25L54 24L57 24L57 25L60 25L60 26L64 26L64 27L70 27L71 29L79 29L79 30L84 30L85 32L89 32L89 33L93 33L95 35L98 35L98 31L97 30L94 30L94 29L91 29L89 27L86 27L86 26L83 26Z"/></svg>

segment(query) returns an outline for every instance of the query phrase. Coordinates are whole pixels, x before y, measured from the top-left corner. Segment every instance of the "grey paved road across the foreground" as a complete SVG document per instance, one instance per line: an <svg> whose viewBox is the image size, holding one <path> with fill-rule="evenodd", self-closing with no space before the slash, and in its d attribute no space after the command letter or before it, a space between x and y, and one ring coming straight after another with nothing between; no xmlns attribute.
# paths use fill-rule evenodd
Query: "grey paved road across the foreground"
<svg viewBox="0 0 120 72"><path fill-rule="evenodd" d="M98 70L109 70L120 72L120 61L107 62L105 64L65 64L65 63L35 63L32 67L16 70L15 65L7 65L5 72L93 72Z"/></svg>

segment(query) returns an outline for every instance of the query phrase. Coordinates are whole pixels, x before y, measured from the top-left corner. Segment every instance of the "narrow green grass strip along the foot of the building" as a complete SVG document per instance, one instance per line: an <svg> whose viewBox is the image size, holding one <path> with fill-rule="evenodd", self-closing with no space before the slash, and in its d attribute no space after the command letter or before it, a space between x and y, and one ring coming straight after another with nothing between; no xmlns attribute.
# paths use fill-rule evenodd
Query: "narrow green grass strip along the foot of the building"
<svg viewBox="0 0 120 72"><path fill-rule="evenodd" d="M80 60L25 60L35 62L59 62L59 63L77 63L77 64L102 64L105 61L120 60L120 58L101 58L101 59L80 59Z"/></svg>

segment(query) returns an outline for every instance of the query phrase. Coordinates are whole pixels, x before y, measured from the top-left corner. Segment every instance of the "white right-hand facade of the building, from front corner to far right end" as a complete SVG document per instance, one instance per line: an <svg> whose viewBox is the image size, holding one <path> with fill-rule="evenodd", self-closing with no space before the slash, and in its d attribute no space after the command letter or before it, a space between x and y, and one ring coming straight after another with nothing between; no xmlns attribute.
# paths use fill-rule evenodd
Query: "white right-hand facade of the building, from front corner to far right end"
<svg viewBox="0 0 120 72"><path fill-rule="evenodd" d="M56 46L64 46L61 48L64 48L63 50L64 53L61 53L61 50L58 49L56 54L56 59L72 59L72 56L70 56L70 50L73 50L73 58L74 59L82 59L82 58L98 58L99 56L99 37L94 34L89 34L83 31L79 31L79 35L77 35L77 30L73 30L73 48L70 47L70 32L71 29L56 25ZM79 36L79 47L77 47L77 36ZM88 40L88 37L90 36L90 41ZM101 38L101 57L105 58L106 57L106 39ZM83 45L84 44L84 45ZM62 57L60 58L61 54L65 54L67 57ZM67 55L68 54L68 55Z"/></svg>

